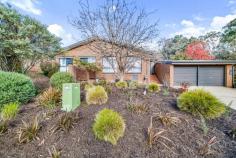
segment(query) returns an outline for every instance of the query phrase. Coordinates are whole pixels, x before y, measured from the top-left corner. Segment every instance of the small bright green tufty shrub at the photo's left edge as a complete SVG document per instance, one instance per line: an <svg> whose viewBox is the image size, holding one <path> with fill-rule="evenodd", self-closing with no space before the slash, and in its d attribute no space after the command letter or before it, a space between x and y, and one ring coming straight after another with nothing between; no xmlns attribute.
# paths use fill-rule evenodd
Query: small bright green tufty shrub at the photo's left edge
<svg viewBox="0 0 236 158"><path fill-rule="evenodd" d="M19 111L19 103L8 103L5 104L1 111L1 117L3 121L13 119Z"/></svg>

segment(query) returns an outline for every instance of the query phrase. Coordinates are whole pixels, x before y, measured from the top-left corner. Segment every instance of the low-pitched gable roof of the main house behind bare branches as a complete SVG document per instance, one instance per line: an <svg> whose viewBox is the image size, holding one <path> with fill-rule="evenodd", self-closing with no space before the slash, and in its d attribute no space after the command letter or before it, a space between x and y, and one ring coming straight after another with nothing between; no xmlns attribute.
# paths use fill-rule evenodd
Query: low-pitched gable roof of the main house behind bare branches
<svg viewBox="0 0 236 158"><path fill-rule="evenodd" d="M67 47L64 47L63 50L62 50L60 53L64 53L64 52L70 51L70 50L72 50L72 49L75 49L75 48L78 48L78 47L81 47L81 46L90 44L91 42L95 42L95 41L97 41L97 40L103 40L103 39L95 38L95 37L94 37L94 38L88 38L88 39L86 39L86 40L82 40L82 41L73 43L73 44L71 44L71 45L69 45L69 46L67 46ZM106 42L106 40L103 40L103 41ZM119 45L119 44L117 44L117 45ZM128 45L127 45L127 47L128 47ZM152 58L152 57L154 57L154 56L155 56L155 57L158 56L159 59L162 58L161 55L158 54L156 51L146 50L146 49L141 48L141 47L140 47L140 48L134 48L134 51L146 53L147 55L150 56L150 58ZM60 53L59 53L59 54L60 54Z"/></svg>

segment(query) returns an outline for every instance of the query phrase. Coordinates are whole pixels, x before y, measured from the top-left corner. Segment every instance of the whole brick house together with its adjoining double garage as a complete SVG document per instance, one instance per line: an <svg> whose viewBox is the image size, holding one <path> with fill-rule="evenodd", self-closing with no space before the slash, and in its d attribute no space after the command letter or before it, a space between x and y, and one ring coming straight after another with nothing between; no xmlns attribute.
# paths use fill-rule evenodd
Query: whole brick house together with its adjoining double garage
<svg viewBox="0 0 236 158"><path fill-rule="evenodd" d="M73 60L80 59L88 63L96 63L102 66L102 71L96 73L89 79L105 79L114 82L116 76L111 65L93 51L89 44L94 40L86 40L72 44L56 56L60 64L60 71L70 72L73 76L83 76L84 72L78 74L74 71ZM233 76L235 74L236 61L229 60L167 60L160 57L155 58L152 53L143 49L135 49L135 53L141 53L137 57L134 67L125 74L125 80L135 80L139 83L157 82L167 84L171 87L179 86L183 82L191 86L226 86L233 87ZM91 77L90 76L90 77ZM76 77L75 77L76 78Z"/></svg>

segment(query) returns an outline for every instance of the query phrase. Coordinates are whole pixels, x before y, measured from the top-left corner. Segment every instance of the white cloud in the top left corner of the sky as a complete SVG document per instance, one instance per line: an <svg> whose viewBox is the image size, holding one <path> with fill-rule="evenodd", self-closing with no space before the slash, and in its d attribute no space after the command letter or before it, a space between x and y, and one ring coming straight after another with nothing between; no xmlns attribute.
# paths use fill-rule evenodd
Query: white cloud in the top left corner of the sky
<svg viewBox="0 0 236 158"><path fill-rule="evenodd" d="M42 11L38 9L35 4L38 4L38 0L0 0L2 3L9 3L26 12L33 13L35 15L41 15Z"/></svg>

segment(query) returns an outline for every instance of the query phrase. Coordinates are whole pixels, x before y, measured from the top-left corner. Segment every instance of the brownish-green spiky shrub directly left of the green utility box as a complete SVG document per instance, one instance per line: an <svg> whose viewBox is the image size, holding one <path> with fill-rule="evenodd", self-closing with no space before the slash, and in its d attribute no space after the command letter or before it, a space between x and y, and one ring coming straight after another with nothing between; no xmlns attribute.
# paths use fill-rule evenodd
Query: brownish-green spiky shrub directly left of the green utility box
<svg viewBox="0 0 236 158"><path fill-rule="evenodd" d="M55 88L49 88L38 97L39 105L47 108L54 108L61 101L61 92Z"/></svg>

